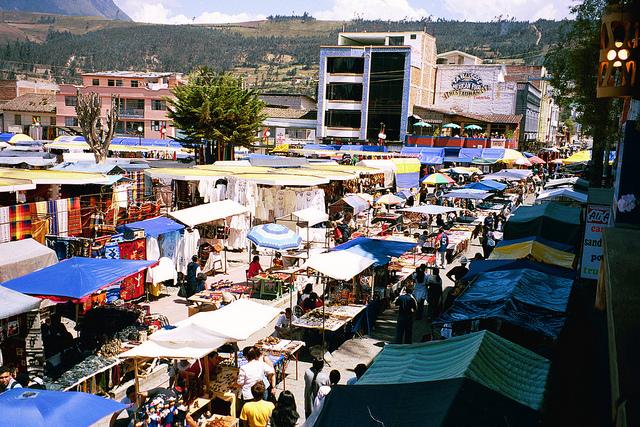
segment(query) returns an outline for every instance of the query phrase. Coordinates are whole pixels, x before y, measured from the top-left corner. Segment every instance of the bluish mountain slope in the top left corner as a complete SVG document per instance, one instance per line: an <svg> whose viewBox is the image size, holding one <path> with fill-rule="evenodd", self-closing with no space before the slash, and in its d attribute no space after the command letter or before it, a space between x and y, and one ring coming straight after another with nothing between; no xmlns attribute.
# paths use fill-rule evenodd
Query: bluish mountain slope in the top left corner
<svg viewBox="0 0 640 427"><path fill-rule="evenodd" d="M113 0L0 0L0 10L131 20Z"/></svg>

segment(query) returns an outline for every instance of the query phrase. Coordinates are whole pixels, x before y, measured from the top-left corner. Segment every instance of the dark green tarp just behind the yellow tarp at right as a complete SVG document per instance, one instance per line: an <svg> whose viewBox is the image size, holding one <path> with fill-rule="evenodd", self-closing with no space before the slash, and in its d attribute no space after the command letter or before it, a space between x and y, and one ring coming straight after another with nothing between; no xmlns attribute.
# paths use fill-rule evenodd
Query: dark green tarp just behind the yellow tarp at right
<svg viewBox="0 0 640 427"><path fill-rule="evenodd" d="M534 236L576 245L580 237L580 208L559 203L519 207L504 226L504 239Z"/></svg>

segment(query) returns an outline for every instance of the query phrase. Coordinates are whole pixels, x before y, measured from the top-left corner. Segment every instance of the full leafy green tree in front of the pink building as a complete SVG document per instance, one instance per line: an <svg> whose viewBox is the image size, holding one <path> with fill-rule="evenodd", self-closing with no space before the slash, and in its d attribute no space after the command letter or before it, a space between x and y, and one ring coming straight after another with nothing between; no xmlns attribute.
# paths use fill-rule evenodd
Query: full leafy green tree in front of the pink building
<svg viewBox="0 0 640 427"><path fill-rule="evenodd" d="M266 116L258 93L242 78L200 68L167 99L168 116L192 144L205 144L207 162L230 159L233 147L251 147Z"/></svg>

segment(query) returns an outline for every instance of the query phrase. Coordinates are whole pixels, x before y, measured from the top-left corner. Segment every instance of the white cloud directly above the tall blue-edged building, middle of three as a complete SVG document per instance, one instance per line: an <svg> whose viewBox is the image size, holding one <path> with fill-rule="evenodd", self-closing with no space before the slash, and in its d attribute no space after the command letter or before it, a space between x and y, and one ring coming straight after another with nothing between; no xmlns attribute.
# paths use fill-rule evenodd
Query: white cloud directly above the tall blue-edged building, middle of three
<svg viewBox="0 0 640 427"><path fill-rule="evenodd" d="M408 0L334 0L329 10L313 12L316 19L345 21L363 19L421 19L429 14L413 7Z"/></svg>

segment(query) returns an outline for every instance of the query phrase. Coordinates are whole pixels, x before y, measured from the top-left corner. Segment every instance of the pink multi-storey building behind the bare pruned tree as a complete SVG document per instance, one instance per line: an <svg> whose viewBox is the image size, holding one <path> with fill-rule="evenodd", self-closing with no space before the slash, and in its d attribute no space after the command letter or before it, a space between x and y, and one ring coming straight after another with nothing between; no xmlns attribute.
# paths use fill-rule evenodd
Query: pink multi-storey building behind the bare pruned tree
<svg viewBox="0 0 640 427"><path fill-rule="evenodd" d="M111 105L111 95L120 97L118 136L139 136L162 139L175 136L175 128L167 118L165 98L171 89L181 83L176 73L143 73L136 71L104 71L82 75L82 85L60 85L56 94L56 125L78 125L76 92L96 92L102 99L103 123Z"/></svg>

